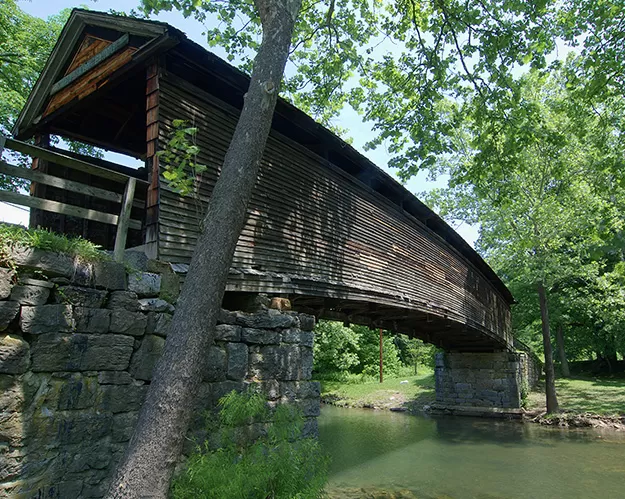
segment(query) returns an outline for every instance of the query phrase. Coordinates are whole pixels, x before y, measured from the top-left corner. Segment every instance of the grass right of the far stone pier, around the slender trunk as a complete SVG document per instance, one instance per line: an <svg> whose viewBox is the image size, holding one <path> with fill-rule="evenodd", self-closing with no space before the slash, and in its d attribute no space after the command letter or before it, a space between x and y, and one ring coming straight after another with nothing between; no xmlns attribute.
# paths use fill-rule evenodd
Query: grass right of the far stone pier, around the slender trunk
<svg viewBox="0 0 625 499"><path fill-rule="evenodd" d="M544 383L530 393L528 409L545 410ZM625 378L560 378L556 380L560 409L600 416L625 415Z"/></svg>

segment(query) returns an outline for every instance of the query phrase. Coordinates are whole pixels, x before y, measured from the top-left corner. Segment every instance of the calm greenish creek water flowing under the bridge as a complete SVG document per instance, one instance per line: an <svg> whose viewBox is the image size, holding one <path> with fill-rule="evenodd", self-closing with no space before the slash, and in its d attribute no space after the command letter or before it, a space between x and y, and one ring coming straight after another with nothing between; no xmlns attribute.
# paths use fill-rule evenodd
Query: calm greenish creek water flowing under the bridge
<svg viewBox="0 0 625 499"><path fill-rule="evenodd" d="M625 432L325 405L332 498L625 498Z"/></svg>

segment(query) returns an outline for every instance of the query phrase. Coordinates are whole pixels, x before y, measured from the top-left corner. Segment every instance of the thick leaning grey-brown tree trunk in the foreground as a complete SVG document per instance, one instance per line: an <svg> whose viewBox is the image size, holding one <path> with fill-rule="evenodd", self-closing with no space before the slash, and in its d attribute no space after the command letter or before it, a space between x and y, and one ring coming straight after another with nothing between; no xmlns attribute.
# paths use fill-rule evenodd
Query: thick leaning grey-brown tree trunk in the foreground
<svg viewBox="0 0 625 499"><path fill-rule="evenodd" d="M263 40L163 355L108 498L166 498L194 410L301 0L256 0Z"/></svg>

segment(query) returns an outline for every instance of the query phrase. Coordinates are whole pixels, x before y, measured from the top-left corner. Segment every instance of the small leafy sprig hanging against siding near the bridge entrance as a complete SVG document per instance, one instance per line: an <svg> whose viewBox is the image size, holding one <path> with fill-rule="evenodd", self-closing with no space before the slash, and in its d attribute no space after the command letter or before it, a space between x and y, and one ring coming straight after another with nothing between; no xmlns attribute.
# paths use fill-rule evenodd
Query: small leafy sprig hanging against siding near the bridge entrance
<svg viewBox="0 0 625 499"><path fill-rule="evenodd" d="M163 160L165 167L163 177L169 186L182 196L193 194L199 197L198 181L206 171L206 165L197 162L200 153L200 148L196 144L197 133L198 129L189 126L188 122L174 120L172 136L163 150L156 153Z"/></svg>

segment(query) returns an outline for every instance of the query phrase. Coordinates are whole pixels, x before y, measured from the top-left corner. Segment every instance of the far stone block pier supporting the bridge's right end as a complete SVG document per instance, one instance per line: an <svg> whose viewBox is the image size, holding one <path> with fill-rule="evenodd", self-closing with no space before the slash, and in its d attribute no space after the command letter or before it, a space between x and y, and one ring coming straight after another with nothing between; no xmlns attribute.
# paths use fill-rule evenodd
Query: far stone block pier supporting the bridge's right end
<svg viewBox="0 0 625 499"><path fill-rule="evenodd" d="M439 353L433 409L466 415L515 412L535 383L530 362L524 352Z"/></svg>

